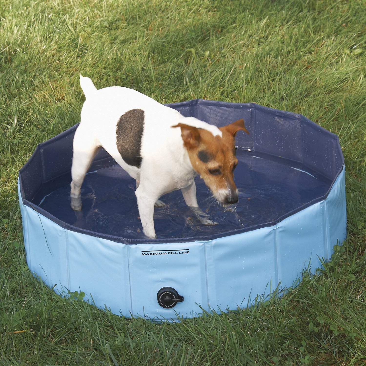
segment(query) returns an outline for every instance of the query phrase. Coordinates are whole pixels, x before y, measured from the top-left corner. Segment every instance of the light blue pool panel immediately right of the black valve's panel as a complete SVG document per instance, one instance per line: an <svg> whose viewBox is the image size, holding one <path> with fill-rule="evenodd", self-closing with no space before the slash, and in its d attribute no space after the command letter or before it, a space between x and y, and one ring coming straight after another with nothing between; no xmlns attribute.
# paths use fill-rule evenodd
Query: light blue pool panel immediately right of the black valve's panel
<svg viewBox="0 0 366 366"><path fill-rule="evenodd" d="M277 286L273 227L206 243L210 307L235 310L265 297Z"/></svg>

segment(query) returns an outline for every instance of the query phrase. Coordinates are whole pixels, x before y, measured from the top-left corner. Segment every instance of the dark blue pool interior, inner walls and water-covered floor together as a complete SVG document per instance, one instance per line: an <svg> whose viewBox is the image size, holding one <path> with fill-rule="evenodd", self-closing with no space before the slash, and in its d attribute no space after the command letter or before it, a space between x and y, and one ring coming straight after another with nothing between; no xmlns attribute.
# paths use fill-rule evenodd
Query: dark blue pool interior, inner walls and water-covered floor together
<svg viewBox="0 0 366 366"><path fill-rule="evenodd" d="M164 207L155 208L156 240L207 239L275 224L325 198L343 167L337 137L301 115L256 104L202 100L172 107L218 126L244 117L250 135L238 132L236 138L235 207L219 206L196 178L199 206L217 224L202 225L181 192L174 191L161 198ZM103 150L83 183L82 211L70 208L75 129L38 145L20 170L23 202L68 229L126 243L148 240L139 220L135 182Z"/></svg>

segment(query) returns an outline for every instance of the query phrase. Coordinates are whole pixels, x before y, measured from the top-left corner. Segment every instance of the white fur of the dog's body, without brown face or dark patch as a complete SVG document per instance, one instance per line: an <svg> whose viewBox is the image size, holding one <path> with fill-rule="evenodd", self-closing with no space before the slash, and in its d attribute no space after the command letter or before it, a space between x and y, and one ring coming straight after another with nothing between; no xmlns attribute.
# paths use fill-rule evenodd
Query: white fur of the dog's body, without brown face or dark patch
<svg viewBox="0 0 366 366"><path fill-rule="evenodd" d="M175 109L132 89L112 86L97 90L89 78L81 75L80 85L86 101L74 137L71 207L81 210L81 185L95 153L102 146L132 178L140 182L135 194L143 232L149 238L155 238L154 204L163 194L181 189L187 205L198 207L194 183L196 172L183 146L180 128L171 126L184 123L220 137L221 131L194 117L183 117ZM142 109L145 113L140 168L123 161L116 145L116 124L120 116L131 109Z"/></svg>

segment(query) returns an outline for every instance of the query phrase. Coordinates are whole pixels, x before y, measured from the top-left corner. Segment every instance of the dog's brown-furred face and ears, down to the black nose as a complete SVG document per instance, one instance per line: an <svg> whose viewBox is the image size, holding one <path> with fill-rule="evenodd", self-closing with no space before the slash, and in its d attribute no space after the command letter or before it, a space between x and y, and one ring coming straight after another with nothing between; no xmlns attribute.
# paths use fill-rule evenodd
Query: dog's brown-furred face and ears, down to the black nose
<svg viewBox="0 0 366 366"><path fill-rule="evenodd" d="M210 188L214 197L223 205L238 201L238 189L234 183L234 169L238 164L235 154L235 135L242 130L249 132L244 120L239 119L220 127L222 137L208 130L178 123L191 164Z"/></svg>

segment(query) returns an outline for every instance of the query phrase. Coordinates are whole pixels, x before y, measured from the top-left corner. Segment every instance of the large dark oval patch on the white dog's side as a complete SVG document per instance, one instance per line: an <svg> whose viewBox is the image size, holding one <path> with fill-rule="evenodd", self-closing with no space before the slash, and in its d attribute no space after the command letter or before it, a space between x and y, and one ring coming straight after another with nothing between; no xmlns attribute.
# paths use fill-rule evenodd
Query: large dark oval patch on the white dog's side
<svg viewBox="0 0 366 366"><path fill-rule="evenodd" d="M128 165L140 167L141 138L145 113L142 109L131 109L124 113L117 122L117 149Z"/></svg>

